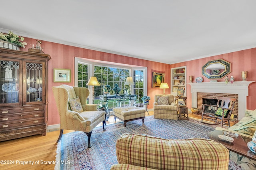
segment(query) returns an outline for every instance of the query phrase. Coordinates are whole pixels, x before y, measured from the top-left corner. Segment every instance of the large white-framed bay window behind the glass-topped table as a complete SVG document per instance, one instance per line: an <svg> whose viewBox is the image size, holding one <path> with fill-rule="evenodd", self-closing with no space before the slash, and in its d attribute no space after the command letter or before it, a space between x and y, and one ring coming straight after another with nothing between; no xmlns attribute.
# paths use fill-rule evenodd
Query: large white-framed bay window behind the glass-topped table
<svg viewBox="0 0 256 170"><path fill-rule="evenodd" d="M129 88L124 85L126 77L132 76L134 79L134 86L131 86L132 94L138 95L138 100L147 95L147 68L146 67L127 67L127 65L116 64L111 62L97 63L75 57L75 86L87 87L86 83L90 76L97 77L100 86L94 87L94 103L98 103L98 96L103 95L102 86L110 85L111 88L117 83L124 92L124 88ZM90 90L89 101L92 102L92 87L87 87ZM110 91L111 95L113 91ZM142 102L140 102L142 103ZM142 106L142 105L138 105Z"/></svg>

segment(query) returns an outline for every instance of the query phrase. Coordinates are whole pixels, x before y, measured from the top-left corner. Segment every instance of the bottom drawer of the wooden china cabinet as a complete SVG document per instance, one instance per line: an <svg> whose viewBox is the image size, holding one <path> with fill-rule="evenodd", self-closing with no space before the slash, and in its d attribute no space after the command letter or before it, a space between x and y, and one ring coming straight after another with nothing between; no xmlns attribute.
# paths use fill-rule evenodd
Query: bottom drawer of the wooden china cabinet
<svg viewBox="0 0 256 170"><path fill-rule="evenodd" d="M25 121L10 121L0 123L0 131L2 130L8 130L12 128L21 128L21 127L28 127L28 126L34 126L34 125L40 125L44 124L44 118L38 118L38 119L26 119Z"/></svg>

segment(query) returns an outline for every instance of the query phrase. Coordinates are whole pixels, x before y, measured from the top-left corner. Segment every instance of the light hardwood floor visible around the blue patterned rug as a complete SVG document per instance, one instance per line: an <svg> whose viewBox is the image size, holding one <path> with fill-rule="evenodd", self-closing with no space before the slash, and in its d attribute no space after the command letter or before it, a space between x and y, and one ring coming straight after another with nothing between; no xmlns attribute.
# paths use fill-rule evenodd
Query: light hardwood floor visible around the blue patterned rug
<svg viewBox="0 0 256 170"><path fill-rule="evenodd" d="M153 111L149 111L149 115L153 114ZM146 116L148 116L147 112ZM200 119L201 116L189 114L189 117ZM116 122L120 121L116 119ZM115 122L114 117L111 116L107 125L112 123ZM64 130L64 133L72 131ZM47 132L46 136L34 135L0 142L0 160L4 160L4 163L6 163L1 162L0 169L53 170L57 148L56 140L59 133L60 130L56 130Z"/></svg>

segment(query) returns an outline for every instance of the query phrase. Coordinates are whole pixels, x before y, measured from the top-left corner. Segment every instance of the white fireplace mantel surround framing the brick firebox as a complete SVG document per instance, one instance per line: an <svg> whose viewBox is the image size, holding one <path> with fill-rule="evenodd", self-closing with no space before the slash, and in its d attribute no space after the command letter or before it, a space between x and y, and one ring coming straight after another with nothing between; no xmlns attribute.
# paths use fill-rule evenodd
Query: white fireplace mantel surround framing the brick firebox
<svg viewBox="0 0 256 170"><path fill-rule="evenodd" d="M228 93L238 94L238 120L245 116L246 96L248 96L248 86L255 81L235 81L232 84L222 82L187 83L191 86L192 107L197 107L197 93Z"/></svg>

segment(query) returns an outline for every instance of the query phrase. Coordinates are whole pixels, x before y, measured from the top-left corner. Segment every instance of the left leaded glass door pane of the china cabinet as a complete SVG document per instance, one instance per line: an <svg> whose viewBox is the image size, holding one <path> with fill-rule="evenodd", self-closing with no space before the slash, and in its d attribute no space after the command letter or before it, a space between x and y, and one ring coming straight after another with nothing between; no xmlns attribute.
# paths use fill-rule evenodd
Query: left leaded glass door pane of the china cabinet
<svg viewBox="0 0 256 170"><path fill-rule="evenodd" d="M0 60L0 104L19 103L20 62Z"/></svg>

